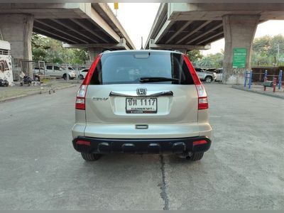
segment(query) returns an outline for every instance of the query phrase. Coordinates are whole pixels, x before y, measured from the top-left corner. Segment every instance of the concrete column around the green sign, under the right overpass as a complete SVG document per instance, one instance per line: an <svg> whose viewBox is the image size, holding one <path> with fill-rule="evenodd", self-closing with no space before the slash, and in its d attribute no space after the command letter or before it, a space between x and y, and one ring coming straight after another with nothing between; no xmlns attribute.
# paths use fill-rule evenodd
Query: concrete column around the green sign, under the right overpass
<svg viewBox="0 0 284 213"><path fill-rule="evenodd" d="M259 18L258 15L223 16L225 35L223 82L225 84L244 84L244 72L251 69L251 49ZM245 68L233 68L234 48L246 48Z"/></svg>

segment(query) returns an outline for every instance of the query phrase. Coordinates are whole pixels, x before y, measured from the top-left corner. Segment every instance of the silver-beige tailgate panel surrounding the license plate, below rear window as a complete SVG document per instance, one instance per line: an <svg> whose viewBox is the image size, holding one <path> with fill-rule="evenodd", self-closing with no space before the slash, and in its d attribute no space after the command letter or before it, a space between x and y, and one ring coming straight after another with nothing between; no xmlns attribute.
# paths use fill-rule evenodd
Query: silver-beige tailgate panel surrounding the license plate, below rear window
<svg viewBox="0 0 284 213"><path fill-rule="evenodd" d="M132 94L132 97L135 97L138 88L146 88L148 94L171 91L173 96L155 96L158 104L156 114L126 114L126 97L109 96L111 92L117 92L119 94ZM195 85L174 84L89 85L86 94L86 118L87 124L93 122L196 122L196 88Z"/></svg>

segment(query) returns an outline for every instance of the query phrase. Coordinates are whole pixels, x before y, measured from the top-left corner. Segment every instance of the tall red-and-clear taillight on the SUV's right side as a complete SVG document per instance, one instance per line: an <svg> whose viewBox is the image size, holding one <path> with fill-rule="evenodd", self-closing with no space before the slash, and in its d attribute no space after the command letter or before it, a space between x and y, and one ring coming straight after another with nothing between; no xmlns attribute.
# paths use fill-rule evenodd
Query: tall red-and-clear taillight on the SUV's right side
<svg viewBox="0 0 284 213"><path fill-rule="evenodd" d="M208 109L208 99L205 88L203 87L202 83L200 82L200 78L198 77L195 67L192 66L190 60L187 58L186 55L183 55L185 63L187 64L188 70L190 70L190 75L192 76L193 82L195 82L195 87L198 94L198 109Z"/></svg>

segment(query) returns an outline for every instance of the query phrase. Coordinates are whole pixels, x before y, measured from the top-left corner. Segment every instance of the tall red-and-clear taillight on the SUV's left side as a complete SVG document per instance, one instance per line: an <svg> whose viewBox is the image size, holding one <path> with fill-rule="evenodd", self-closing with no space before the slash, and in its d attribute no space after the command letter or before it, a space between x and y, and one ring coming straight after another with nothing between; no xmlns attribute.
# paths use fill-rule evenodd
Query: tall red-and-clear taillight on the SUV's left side
<svg viewBox="0 0 284 213"><path fill-rule="evenodd" d="M92 63L92 66L89 68L89 72L87 73L86 77L84 78L83 84L81 85L80 89L77 92L76 104L75 104L76 109L81 109L81 110L86 109L87 88L88 88L89 82L92 78L92 75L94 74L94 70L96 69L97 63L99 62L101 56L102 56L101 54L98 55L96 60L94 60L94 62Z"/></svg>

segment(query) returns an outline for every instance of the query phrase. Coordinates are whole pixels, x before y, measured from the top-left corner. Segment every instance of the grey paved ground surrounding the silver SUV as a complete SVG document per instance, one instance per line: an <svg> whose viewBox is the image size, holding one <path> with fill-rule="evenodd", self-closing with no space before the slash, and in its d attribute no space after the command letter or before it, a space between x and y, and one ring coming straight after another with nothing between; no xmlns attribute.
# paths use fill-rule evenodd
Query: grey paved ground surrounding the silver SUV
<svg viewBox="0 0 284 213"><path fill-rule="evenodd" d="M0 209L284 209L284 101L207 84L212 148L104 155L72 148L77 87L0 103Z"/></svg>

